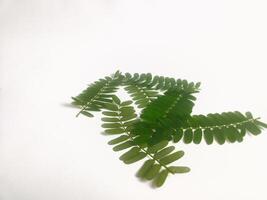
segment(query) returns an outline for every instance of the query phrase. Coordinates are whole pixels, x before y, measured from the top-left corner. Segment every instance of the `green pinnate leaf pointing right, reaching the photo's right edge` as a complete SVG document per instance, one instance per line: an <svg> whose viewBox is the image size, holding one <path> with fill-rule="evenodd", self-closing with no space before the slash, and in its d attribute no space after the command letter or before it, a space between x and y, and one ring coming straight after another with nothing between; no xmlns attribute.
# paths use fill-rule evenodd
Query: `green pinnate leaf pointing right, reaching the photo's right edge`
<svg viewBox="0 0 267 200"><path fill-rule="evenodd" d="M223 112L204 115L193 115L178 129L169 130L173 142L177 143L182 138L184 143L199 144L202 140L206 144L216 141L218 144L225 142L242 142L246 134L258 135L266 124L253 118L247 112L245 115L235 112Z"/></svg>

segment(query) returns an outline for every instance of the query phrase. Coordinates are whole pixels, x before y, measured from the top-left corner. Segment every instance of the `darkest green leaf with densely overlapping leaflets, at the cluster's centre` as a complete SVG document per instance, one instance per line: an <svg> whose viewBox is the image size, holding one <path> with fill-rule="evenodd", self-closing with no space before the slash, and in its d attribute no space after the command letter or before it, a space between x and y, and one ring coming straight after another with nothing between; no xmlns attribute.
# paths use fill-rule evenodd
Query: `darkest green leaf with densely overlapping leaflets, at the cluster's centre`
<svg viewBox="0 0 267 200"><path fill-rule="evenodd" d="M171 131L181 127L190 117L194 100L191 93L181 89L171 89L159 96L142 111L140 120L131 130L132 134L139 136L136 142L155 144L161 140L171 140ZM185 139L190 142L190 138Z"/></svg>

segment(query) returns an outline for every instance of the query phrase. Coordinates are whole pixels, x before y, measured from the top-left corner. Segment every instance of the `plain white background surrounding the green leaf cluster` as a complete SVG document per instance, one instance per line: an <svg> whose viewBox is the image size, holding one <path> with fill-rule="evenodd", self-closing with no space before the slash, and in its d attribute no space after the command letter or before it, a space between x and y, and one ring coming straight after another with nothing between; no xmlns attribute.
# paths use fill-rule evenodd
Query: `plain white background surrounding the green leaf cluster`
<svg viewBox="0 0 267 200"><path fill-rule="evenodd" d="M194 113L267 121L265 0L1 0L0 199L267 199L267 131L177 144L192 171L152 189L70 97L117 69L201 81Z"/></svg>

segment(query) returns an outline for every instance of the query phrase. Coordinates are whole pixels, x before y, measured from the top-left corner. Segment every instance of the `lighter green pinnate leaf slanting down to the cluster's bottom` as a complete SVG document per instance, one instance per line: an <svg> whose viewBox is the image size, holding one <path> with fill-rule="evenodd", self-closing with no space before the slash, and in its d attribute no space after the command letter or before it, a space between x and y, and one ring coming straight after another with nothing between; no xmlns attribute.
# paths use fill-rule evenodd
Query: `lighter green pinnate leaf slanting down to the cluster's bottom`
<svg viewBox="0 0 267 200"><path fill-rule="evenodd" d="M113 145L114 151L125 151L119 159L125 164L132 164L142 159L147 158L144 165L140 168L137 176L144 180L157 180L156 177L160 176L161 171L167 170L168 173L175 174L179 169L178 166L169 166L174 161L180 159L183 155L183 151L174 152L174 146L168 146L168 141L161 141L153 146L136 144L134 136L130 133L133 125L136 123L137 115L135 114L134 107L130 102L121 102L117 96L112 97L113 101L108 103L104 109L108 112L112 112L106 115L107 111L103 111L102 127L105 128L107 135L118 134L116 138L113 138L108 142L109 145ZM182 170L180 170L182 171ZM186 171L185 171L186 172ZM182 172L180 172L182 173ZM156 182L153 181L156 184Z"/></svg>

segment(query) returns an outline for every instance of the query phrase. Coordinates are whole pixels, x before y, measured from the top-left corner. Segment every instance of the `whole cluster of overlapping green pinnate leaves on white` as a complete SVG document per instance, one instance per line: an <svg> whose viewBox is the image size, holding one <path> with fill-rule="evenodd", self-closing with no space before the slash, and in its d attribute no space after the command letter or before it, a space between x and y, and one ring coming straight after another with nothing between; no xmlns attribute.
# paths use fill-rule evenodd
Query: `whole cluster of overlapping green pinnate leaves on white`
<svg viewBox="0 0 267 200"><path fill-rule="evenodd" d="M121 101L116 96L120 87L131 100ZM258 135L267 128L250 112L192 115L199 87L199 82L117 71L89 85L72 98L72 103L81 109L77 116L93 117L92 112L102 111L105 133L117 135L108 144L114 151L125 151L120 160L131 164L146 159L137 176L160 187L169 174L190 171L189 167L172 165L184 152L175 151L170 143L242 142L246 133ZM139 115L133 102L140 109Z"/></svg>

